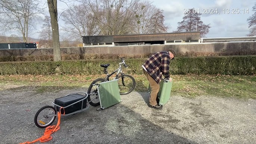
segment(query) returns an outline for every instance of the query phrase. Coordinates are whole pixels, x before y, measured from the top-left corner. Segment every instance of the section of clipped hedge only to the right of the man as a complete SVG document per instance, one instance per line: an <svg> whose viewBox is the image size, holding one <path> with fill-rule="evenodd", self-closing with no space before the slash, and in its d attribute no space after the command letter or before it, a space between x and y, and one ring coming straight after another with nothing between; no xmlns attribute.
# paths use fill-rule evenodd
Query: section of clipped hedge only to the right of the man
<svg viewBox="0 0 256 144"><path fill-rule="evenodd" d="M180 57L171 67L175 74L252 75L256 73L256 56Z"/></svg>

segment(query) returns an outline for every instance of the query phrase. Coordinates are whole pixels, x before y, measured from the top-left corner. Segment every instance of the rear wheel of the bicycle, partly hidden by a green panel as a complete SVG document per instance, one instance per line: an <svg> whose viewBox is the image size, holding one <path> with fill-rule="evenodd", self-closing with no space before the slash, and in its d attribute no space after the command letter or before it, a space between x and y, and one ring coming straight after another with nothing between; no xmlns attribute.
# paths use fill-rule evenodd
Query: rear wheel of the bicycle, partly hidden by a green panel
<svg viewBox="0 0 256 144"><path fill-rule="evenodd" d="M105 79L103 79L103 78L97 78L91 83L90 87L88 88L87 99L91 106L99 106L100 105L100 98L98 95L97 85L94 85L94 84L99 84L104 81L105 81Z"/></svg>

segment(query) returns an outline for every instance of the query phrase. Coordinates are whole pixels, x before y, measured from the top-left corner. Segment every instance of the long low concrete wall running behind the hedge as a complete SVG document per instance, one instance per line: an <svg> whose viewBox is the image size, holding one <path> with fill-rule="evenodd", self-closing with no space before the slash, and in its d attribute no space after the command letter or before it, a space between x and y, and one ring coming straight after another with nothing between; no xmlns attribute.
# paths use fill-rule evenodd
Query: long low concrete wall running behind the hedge
<svg viewBox="0 0 256 144"><path fill-rule="evenodd" d="M62 54L145 54L156 51L175 49L177 52L219 52L256 50L256 42L244 43L197 43L197 44L166 44L148 46L112 46L112 47L71 47L60 48ZM0 56L52 55L53 48L7 49L0 50Z"/></svg>

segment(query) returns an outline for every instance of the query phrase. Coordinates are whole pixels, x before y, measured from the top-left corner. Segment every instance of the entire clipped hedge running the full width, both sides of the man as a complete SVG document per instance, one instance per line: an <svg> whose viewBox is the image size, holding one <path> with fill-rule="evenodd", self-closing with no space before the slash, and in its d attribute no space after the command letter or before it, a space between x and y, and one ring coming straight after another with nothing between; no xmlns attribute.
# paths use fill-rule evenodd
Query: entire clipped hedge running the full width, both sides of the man
<svg viewBox="0 0 256 144"><path fill-rule="evenodd" d="M126 59L129 74L143 74L141 65L146 59ZM103 74L100 64L110 63L109 72L118 68L120 60L76 60L76 61L32 61L1 62L0 75L51 75L55 73L70 75ZM256 56L212 56L177 57L171 62L171 74L256 74Z"/></svg>

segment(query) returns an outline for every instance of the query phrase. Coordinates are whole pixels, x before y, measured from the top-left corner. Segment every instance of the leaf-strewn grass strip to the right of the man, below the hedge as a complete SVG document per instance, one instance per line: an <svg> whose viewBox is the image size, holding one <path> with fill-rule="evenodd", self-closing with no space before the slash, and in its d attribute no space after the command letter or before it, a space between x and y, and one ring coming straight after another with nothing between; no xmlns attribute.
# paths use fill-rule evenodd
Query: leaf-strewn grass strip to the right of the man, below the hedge
<svg viewBox="0 0 256 144"><path fill-rule="evenodd" d="M174 92L185 94L184 96L188 97L202 95L218 97L256 98L256 81L254 81L253 78L255 78L255 76L248 75L181 76L178 77L178 82L173 84L173 89Z"/></svg>

